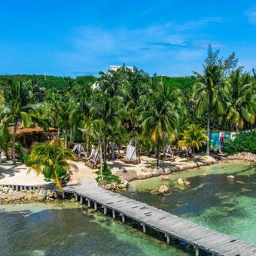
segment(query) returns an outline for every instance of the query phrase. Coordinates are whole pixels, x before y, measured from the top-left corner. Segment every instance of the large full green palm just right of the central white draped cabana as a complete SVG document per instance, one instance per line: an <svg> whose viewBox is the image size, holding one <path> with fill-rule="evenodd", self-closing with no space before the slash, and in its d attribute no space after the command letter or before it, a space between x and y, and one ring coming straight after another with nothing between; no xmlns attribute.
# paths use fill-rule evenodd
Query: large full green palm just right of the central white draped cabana
<svg viewBox="0 0 256 256"><path fill-rule="evenodd" d="M145 111L142 112L142 135L157 145L157 166L160 160L160 143L164 137L175 134L176 107L181 103L178 89L163 84L156 76L150 79L148 95L142 98Z"/></svg>

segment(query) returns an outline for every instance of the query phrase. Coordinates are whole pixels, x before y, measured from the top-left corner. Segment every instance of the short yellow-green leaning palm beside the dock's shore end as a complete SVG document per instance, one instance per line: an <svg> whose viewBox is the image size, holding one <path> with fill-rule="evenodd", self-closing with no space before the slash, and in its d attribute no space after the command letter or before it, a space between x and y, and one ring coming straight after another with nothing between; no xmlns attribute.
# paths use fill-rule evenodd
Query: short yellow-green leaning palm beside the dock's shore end
<svg viewBox="0 0 256 256"><path fill-rule="evenodd" d="M59 178L69 170L71 163L68 163L67 160L73 159L74 156L71 151L62 148L59 139L38 143L32 148L29 155L29 171L33 169L38 175L50 172L50 177L56 183L56 187L62 191Z"/></svg>

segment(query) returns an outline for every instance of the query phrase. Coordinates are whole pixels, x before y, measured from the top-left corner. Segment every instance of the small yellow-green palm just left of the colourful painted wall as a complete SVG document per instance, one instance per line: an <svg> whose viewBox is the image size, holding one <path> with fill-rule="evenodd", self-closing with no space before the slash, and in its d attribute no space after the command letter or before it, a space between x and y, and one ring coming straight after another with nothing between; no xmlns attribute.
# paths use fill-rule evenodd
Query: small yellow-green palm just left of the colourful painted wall
<svg viewBox="0 0 256 256"><path fill-rule="evenodd" d="M178 142L179 146L190 146L193 149L193 159L195 156L195 149L199 151L203 142L208 142L209 138L206 136L205 130L203 130L197 124L191 124L187 130L183 133L183 139Z"/></svg>

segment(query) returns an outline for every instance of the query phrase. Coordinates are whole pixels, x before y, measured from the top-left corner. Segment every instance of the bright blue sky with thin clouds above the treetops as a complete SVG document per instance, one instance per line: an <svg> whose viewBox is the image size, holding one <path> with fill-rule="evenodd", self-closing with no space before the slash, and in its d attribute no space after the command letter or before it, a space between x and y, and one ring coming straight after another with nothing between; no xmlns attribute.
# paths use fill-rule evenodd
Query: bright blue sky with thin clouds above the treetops
<svg viewBox="0 0 256 256"><path fill-rule="evenodd" d="M1 0L0 74L97 75L110 65L183 76L208 44L256 68L256 2Z"/></svg>

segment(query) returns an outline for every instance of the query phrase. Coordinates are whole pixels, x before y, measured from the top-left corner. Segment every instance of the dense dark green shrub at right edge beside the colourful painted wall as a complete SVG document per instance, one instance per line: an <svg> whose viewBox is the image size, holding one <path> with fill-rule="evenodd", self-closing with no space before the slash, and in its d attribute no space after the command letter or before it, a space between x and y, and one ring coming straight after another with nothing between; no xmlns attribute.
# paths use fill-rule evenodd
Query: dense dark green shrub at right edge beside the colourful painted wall
<svg viewBox="0 0 256 256"><path fill-rule="evenodd" d="M225 142L223 151L227 154L236 154L242 151L256 154L256 130L250 133L239 133L233 141Z"/></svg>

